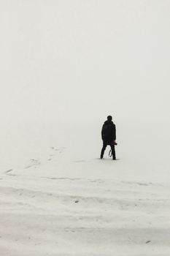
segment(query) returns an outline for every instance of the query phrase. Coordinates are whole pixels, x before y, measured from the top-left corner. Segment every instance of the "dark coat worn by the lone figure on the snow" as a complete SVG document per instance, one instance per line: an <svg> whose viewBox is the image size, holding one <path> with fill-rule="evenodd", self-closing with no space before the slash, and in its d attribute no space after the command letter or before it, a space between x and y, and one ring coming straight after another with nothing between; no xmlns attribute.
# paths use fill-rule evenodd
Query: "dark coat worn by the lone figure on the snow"
<svg viewBox="0 0 170 256"><path fill-rule="evenodd" d="M105 121L101 129L101 138L107 145L116 140L116 126L112 121Z"/></svg>

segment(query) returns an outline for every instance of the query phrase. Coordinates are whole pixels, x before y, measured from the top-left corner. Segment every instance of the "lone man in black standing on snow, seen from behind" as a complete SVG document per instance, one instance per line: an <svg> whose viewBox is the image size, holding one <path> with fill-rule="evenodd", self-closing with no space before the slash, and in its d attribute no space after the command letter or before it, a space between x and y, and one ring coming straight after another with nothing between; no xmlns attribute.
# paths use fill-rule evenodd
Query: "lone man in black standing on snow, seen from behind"
<svg viewBox="0 0 170 256"><path fill-rule="evenodd" d="M104 157L104 151L109 145L112 149L112 159L116 160L115 156L115 140L116 140L116 126L112 122L112 116L107 116L107 121L101 129L101 138L103 140L103 148L101 149L101 159Z"/></svg>

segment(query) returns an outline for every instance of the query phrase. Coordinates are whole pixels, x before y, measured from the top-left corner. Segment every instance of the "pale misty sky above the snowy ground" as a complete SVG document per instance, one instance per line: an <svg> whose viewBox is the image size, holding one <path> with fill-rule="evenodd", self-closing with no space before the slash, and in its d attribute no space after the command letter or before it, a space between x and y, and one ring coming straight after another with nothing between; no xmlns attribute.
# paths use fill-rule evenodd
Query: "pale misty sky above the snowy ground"
<svg viewBox="0 0 170 256"><path fill-rule="evenodd" d="M1 118L169 118L170 1L1 0Z"/></svg>

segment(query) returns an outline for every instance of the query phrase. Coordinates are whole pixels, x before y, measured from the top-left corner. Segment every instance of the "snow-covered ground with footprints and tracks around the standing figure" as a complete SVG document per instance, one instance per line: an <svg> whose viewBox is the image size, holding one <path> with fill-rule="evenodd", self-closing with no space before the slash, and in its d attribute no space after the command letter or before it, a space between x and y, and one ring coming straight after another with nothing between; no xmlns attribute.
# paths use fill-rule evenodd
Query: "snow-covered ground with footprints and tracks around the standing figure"
<svg viewBox="0 0 170 256"><path fill-rule="evenodd" d="M159 127L117 127L117 161L109 148L98 159L99 122L4 130L1 255L169 255L169 148L155 142Z"/></svg>

